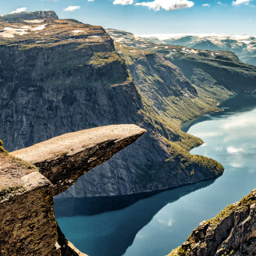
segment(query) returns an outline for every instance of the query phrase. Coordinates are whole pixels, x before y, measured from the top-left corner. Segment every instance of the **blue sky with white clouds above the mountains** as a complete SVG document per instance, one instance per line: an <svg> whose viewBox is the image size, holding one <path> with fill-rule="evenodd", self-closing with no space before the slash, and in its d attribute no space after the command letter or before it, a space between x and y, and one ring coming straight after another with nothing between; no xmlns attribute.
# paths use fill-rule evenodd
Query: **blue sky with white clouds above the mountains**
<svg viewBox="0 0 256 256"><path fill-rule="evenodd" d="M256 0L0 0L0 14L25 9L135 34L256 35Z"/></svg>

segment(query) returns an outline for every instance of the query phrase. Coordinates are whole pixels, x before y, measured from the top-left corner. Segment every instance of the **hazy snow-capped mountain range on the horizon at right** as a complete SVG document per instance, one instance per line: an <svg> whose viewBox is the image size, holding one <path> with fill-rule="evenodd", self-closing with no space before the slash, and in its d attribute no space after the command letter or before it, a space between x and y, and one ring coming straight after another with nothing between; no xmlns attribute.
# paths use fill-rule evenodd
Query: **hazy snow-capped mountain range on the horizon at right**
<svg viewBox="0 0 256 256"><path fill-rule="evenodd" d="M210 51L231 51L241 61L256 66L256 37L247 35L166 35L165 38L162 38L160 35L147 35L145 38L157 44L183 45Z"/></svg>

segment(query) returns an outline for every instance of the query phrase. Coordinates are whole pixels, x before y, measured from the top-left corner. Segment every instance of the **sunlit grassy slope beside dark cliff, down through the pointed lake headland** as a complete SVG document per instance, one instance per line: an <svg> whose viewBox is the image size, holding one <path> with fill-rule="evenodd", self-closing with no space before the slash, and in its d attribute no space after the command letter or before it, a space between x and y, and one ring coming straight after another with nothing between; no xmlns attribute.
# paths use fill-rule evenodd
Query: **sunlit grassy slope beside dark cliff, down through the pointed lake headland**
<svg viewBox="0 0 256 256"><path fill-rule="evenodd" d="M222 174L223 167L215 160L188 152L203 141L180 130L183 122L206 112L218 111L217 101L197 94L180 70L162 55L123 44L116 44L116 50L125 59L141 94L144 108L140 109L140 114L150 120L169 146L166 162L190 176L197 171L203 172L206 178Z"/></svg>

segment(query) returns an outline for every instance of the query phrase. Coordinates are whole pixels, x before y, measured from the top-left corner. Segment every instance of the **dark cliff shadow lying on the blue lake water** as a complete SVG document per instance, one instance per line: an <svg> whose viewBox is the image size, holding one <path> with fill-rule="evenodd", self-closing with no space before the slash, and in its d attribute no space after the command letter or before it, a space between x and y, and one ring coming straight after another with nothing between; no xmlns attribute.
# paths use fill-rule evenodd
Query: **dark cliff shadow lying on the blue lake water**
<svg viewBox="0 0 256 256"><path fill-rule="evenodd" d="M208 180L153 196L144 193L55 199L55 215L62 232L80 251L91 256L121 256L140 229L166 204L214 182Z"/></svg>

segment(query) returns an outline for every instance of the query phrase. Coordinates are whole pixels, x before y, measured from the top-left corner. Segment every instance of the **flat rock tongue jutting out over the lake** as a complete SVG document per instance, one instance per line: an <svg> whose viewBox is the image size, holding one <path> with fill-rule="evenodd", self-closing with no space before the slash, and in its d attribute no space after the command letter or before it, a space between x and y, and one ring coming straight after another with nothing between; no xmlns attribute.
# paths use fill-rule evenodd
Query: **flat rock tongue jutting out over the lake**
<svg viewBox="0 0 256 256"><path fill-rule="evenodd" d="M107 161L137 140L146 130L133 124L102 126L66 133L11 155L36 165L60 194L85 172Z"/></svg>

